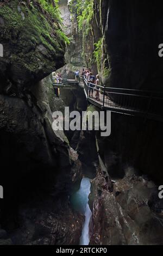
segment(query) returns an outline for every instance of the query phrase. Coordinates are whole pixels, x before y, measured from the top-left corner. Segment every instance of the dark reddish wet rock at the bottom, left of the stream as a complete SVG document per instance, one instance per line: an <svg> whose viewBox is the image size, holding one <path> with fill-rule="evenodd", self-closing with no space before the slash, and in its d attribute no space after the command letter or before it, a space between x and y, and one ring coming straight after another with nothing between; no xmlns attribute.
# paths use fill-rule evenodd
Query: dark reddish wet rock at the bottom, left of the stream
<svg viewBox="0 0 163 256"><path fill-rule="evenodd" d="M16 245L78 245L84 217L70 209L66 198L40 198L19 211L20 228L10 234Z"/></svg>

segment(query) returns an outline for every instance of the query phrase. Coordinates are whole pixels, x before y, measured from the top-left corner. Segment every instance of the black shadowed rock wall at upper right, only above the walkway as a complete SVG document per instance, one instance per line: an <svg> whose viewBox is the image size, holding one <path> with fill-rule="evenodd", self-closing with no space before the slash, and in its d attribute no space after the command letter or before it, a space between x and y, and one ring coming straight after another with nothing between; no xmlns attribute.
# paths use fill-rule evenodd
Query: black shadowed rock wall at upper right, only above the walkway
<svg viewBox="0 0 163 256"><path fill-rule="evenodd" d="M99 19L100 14L100 19ZM162 91L162 7L154 1L95 1L103 37L101 68L111 87ZM102 71L101 71L102 73Z"/></svg>

